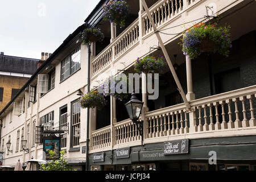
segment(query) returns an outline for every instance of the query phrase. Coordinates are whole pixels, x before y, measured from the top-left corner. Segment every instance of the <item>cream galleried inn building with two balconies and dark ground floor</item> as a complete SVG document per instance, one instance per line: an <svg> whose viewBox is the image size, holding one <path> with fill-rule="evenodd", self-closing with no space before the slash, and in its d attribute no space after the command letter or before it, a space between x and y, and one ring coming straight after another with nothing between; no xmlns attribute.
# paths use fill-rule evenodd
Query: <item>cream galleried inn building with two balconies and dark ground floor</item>
<svg viewBox="0 0 256 182"><path fill-rule="evenodd" d="M64 40L1 111L3 165L14 165L18 159L24 163L31 156L45 159L42 142L35 142L36 126L44 126L63 131L58 134L60 148L67 151L69 163L81 170L86 155L93 171L254 170L256 26L251 22L256 20L255 1L146 1L172 64L177 65L175 72L190 107L177 91L170 69L164 70L159 74L158 98L150 100L144 86L137 93L144 102L139 119L143 135L127 115L125 103L130 96L123 101L106 98L108 104L102 110L90 109L89 117L79 106L77 93L85 94L88 85L97 89L109 76L135 73L138 57L163 55L141 1L127 1L129 18L124 28L102 20L106 2L98 3L85 24ZM221 26L232 27L229 57L202 53L189 60L178 45L182 32L215 15L221 17ZM104 43L83 45L82 30L95 25L104 33ZM144 78L140 85L146 85ZM18 104L22 105L19 112ZM24 139L28 152L20 148ZM6 150L7 141L13 153Z"/></svg>

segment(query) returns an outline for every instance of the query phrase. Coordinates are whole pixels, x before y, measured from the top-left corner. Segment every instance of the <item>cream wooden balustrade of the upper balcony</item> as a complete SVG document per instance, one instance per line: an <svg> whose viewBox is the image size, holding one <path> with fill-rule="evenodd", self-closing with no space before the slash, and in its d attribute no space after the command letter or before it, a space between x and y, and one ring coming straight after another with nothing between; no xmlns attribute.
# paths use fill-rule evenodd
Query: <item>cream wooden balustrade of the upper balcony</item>
<svg viewBox="0 0 256 182"><path fill-rule="evenodd" d="M184 9L192 6L197 1L200 0L163 0L156 2L155 5L150 7L150 13L156 27L160 28L167 22L170 22L170 20L181 14ZM139 36L146 36L153 31L146 13L143 13L141 17L142 27L139 26L139 19L137 18L108 47L93 58L92 78L102 72L110 63L117 60L125 51L138 43ZM139 35L139 28L142 28L142 35Z"/></svg>

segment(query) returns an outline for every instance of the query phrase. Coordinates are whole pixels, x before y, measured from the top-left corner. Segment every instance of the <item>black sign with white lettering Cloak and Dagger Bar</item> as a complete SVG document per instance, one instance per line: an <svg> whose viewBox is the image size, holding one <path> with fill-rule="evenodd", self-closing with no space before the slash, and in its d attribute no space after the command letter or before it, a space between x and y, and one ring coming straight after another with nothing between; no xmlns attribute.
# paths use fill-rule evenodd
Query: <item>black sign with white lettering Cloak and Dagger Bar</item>
<svg viewBox="0 0 256 182"><path fill-rule="evenodd" d="M188 154L188 139L164 142L164 155Z"/></svg>

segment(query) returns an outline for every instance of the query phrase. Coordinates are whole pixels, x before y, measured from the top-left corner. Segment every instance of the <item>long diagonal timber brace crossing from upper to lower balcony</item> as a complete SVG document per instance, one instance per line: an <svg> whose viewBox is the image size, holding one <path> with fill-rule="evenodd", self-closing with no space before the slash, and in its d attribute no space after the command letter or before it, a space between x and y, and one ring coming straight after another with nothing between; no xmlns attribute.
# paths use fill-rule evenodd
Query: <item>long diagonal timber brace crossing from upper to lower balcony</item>
<svg viewBox="0 0 256 182"><path fill-rule="evenodd" d="M167 63L168 63L168 66L170 67L171 69L171 73L172 73L172 76L174 76L174 80L176 82L176 85L177 85L177 88L181 94L181 97L183 98L183 101L185 103L185 106L187 107L187 109L190 109L191 108L191 105L189 104L188 100L187 100L187 97L185 96L185 93L184 93L184 90L180 84L180 81L179 81L179 78L177 77L176 75L176 72L175 72L175 69L174 67L172 66L172 62L171 62L171 59L170 59L170 56L168 55L167 53L167 50L166 50L166 47L164 47L164 44L163 44L163 40L162 38L160 37L160 34L155 26L155 23L154 23L154 20L152 19L152 16L150 14L150 11L148 10L148 7L147 7L147 4L145 2L145 0L140 0L145 11L146 11L146 14L148 16L148 19L150 20L150 23L154 29L154 32L155 32L155 35L156 35L156 38L158 38L158 42L159 42L159 46L162 48L162 51L163 51L163 54L164 54L164 57L166 57L166 60L167 60Z"/></svg>

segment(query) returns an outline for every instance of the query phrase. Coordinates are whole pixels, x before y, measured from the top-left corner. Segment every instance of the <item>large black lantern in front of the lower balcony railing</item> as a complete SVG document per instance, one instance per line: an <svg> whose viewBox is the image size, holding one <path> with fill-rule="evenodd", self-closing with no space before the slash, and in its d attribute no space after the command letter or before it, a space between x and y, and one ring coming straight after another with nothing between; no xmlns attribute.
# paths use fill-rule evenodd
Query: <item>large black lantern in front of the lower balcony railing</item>
<svg viewBox="0 0 256 182"><path fill-rule="evenodd" d="M142 132L143 131L143 121L138 121L138 119L139 119L139 115L141 115L141 110L142 110L143 104L144 104L144 102L138 100L135 93L131 94L131 100L125 104L127 113L129 115L131 121L133 121L133 123L136 124L137 129L139 130L139 134L142 137L142 141L143 141L143 132Z"/></svg>

